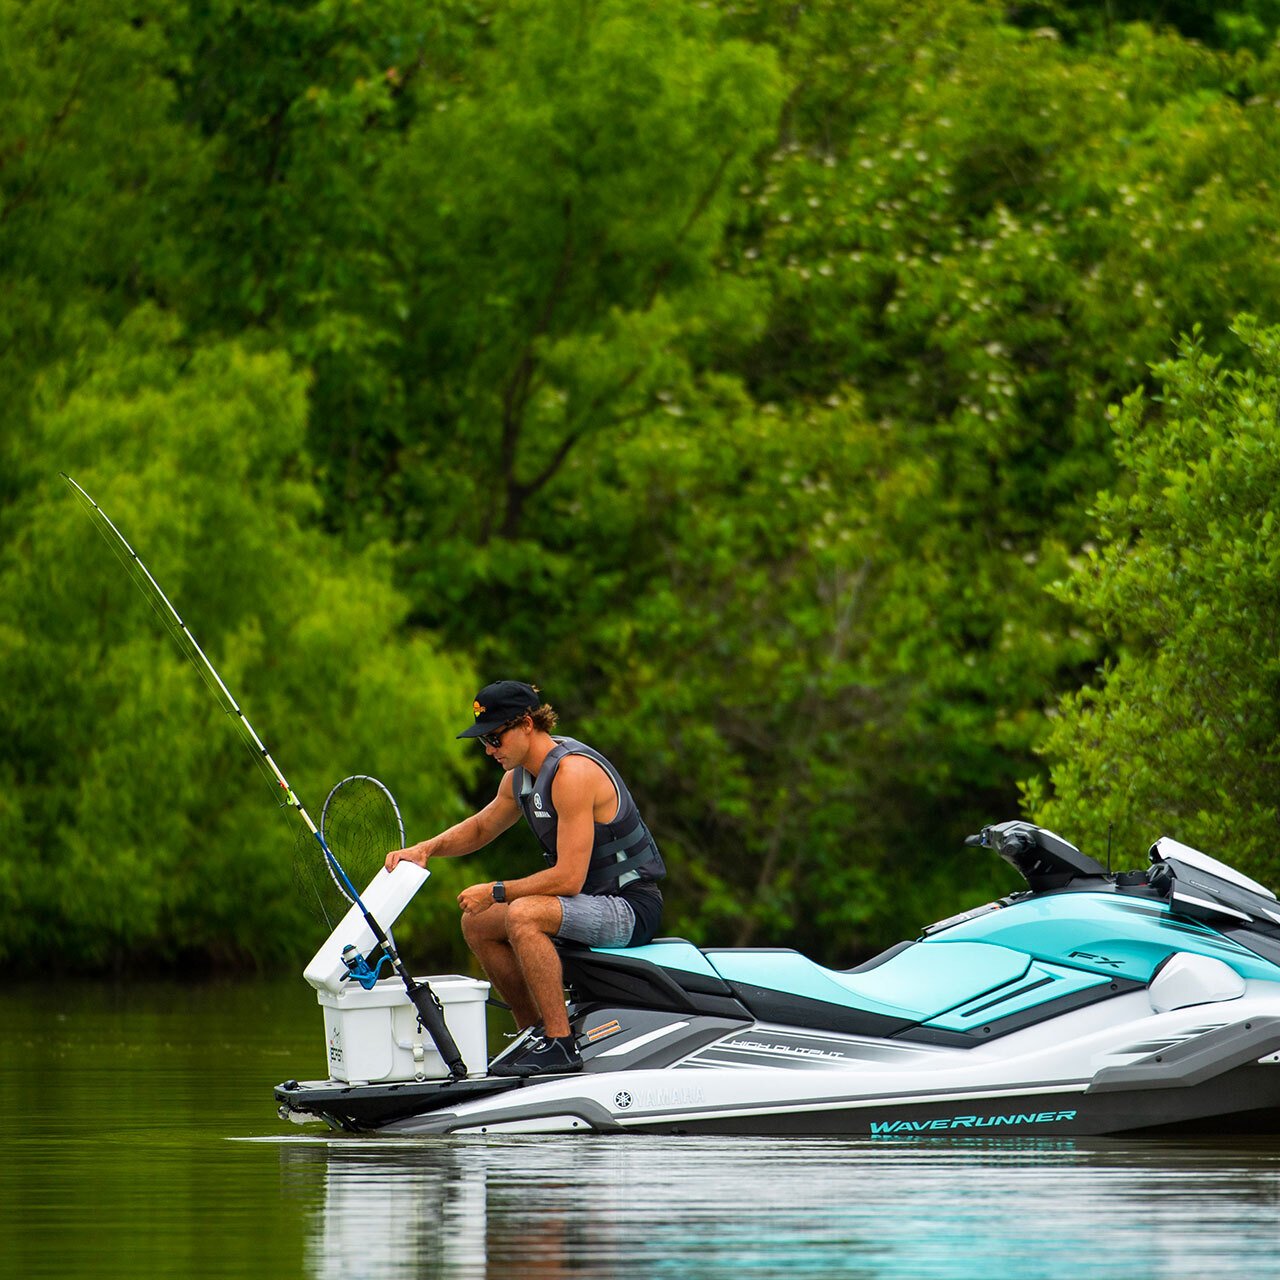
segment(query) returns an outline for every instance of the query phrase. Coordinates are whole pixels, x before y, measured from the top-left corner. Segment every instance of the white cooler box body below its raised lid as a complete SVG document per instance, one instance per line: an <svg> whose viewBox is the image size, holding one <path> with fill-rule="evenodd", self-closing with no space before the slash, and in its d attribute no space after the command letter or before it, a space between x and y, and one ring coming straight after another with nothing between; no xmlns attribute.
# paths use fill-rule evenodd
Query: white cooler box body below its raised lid
<svg viewBox="0 0 1280 1280"><path fill-rule="evenodd" d="M484 1075L489 1069L489 983L456 973L417 980L429 982L444 1006L444 1021L467 1074ZM316 998L324 1009L330 1079L347 1084L448 1079L449 1069L430 1034L417 1025L417 1010L399 978L383 978L372 991L347 982L337 993L317 991Z"/></svg>

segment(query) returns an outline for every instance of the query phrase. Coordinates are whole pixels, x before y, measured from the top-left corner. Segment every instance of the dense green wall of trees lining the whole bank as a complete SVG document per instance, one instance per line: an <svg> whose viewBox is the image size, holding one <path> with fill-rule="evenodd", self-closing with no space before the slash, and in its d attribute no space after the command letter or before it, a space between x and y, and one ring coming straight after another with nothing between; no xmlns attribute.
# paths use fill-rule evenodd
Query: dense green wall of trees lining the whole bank
<svg viewBox="0 0 1280 1280"><path fill-rule="evenodd" d="M1010 883L951 851L1028 778L1087 846L1180 818L1270 873L1272 744L1242 744L1271 562L1226 628L1229 782L1138 749L1206 655L1130 605L1192 590L1206 520L1153 516L1201 475L1190 424L1274 403L1276 22L0 0L0 950L315 940L288 832L59 470L308 805L371 772L438 829L497 781L453 742L475 685L538 682L641 800L669 932L911 933ZM1133 399L1153 365L1215 390ZM1221 480L1254 549L1257 466ZM1073 571L1100 540L1103 594ZM449 890L529 856L448 867L412 927L457 947Z"/></svg>

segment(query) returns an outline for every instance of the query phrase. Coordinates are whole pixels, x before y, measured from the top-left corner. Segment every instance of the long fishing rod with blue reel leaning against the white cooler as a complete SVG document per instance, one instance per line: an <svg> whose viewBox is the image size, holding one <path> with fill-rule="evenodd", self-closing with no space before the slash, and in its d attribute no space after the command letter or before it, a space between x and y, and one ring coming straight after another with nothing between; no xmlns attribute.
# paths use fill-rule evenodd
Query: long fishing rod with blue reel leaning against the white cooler
<svg viewBox="0 0 1280 1280"><path fill-rule="evenodd" d="M399 956L396 942L378 923L378 919L369 910L369 908L365 906L364 901L361 901L360 893L356 892L356 887L351 883L347 873L342 869L342 864L334 856L334 852L325 841L324 835L311 820L311 815L303 808L302 801L294 794L293 787L289 786L288 780L280 772L280 767L271 759L270 753L262 745L262 740L255 732L253 726L250 724L244 712L241 709L236 699L232 698L227 685L223 684L223 677L218 675L214 664L206 657L205 650L200 648L196 643L196 637L187 630L187 623L182 621L178 611L170 603L169 596L164 594L160 589L160 584L151 576L151 571L138 558L138 553L128 544L124 534L115 527L106 512L102 511L102 508L69 475L67 475L65 471L59 471L59 475L72 486L72 492L76 494L90 520L93 521L93 526L106 540L106 544L111 548L116 558L124 566L129 577L133 579L134 584L142 591L147 603L160 616L160 621L164 622L165 630L170 636L173 636L182 654L204 677L205 684L212 690L214 696L221 704L223 710L234 717L237 728L246 744L250 746L250 750L260 762L260 765L265 767L268 777L278 785L280 791L283 791L285 804L297 810L298 817L306 824L311 835L315 836L324 852L325 865L329 868L330 876L334 877L338 887L342 890L348 901L360 909L365 918L365 924L369 925L378 946L381 947L383 952L390 960L392 968L403 980L404 991L408 993L408 998L417 1010L419 1021L424 1028L426 1028L428 1034L430 1034L434 1041L435 1047L440 1052L440 1057L449 1069L449 1074L456 1080L462 1079L467 1074L467 1068L462 1061L462 1055L458 1052L458 1046L454 1042L453 1036L449 1033L448 1024L444 1021L444 1007L440 1005L439 996L436 996L436 993L431 989L430 983L419 982L415 977L412 977L412 974L410 974Z"/></svg>

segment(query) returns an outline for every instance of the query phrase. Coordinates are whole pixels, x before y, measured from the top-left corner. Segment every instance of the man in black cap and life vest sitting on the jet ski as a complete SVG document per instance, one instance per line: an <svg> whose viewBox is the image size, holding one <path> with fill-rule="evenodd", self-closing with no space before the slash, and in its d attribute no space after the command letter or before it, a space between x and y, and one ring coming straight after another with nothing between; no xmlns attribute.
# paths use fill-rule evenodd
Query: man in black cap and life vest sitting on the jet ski
<svg viewBox="0 0 1280 1280"><path fill-rule="evenodd" d="M532 685L500 680L472 704L476 737L502 765L498 794L477 814L408 849L388 854L425 867L431 858L471 854L521 817L543 846L547 867L522 879L471 884L458 895L462 936L489 980L535 1037L495 1075L581 1070L570 1034L559 954L552 938L596 947L648 942L662 919L662 855L618 771L584 742L553 737L556 712Z"/></svg>

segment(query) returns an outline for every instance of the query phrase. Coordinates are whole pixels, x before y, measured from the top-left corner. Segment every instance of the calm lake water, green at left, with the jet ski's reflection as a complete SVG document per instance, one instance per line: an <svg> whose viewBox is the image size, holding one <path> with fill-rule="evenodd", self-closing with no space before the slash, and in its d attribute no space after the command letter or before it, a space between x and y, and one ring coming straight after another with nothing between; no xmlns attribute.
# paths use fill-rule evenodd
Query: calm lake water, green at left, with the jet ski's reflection
<svg viewBox="0 0 1280 1280"><path fill-rule="evenodd" d="M0 997L0 1275L1280 1275L1275 1138L352 1139L301 979Z"/></svg>

